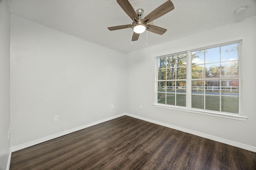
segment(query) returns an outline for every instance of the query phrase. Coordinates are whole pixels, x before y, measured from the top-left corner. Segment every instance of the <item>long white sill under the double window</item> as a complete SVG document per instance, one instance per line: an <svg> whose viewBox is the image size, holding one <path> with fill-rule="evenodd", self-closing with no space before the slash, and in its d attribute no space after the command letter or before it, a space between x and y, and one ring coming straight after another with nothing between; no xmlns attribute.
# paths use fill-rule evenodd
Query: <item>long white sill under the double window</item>
<svg viewBox="0 0 256 170"><path fill-rule="evenodd" d="M186 111L190 113L196 113L196 114L201 114L201 115L209 115L209 116L215 116L215 117L223 117L227 119L235 119L235 120L240 120L240 121L246 121L247 117L244 117L242 115L235 115L232 113L217 113L217 112L210 112L208 110L205 111L200 111L199 109L188 109L188 108L183 108L183 107L173 107L173 106L166 106L165 104L153 104L154 107L160 107L164 109L172 109L172 110L178 110L178 111Z"/></svg>

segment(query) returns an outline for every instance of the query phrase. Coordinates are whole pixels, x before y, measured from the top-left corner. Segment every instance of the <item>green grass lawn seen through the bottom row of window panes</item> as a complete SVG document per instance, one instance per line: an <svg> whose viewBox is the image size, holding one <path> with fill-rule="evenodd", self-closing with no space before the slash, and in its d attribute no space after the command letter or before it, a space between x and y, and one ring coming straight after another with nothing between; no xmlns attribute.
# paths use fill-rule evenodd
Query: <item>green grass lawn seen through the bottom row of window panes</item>
<svg viewBox="0 0 256 170"><path fill-rule="evenodd" d="M220 111L220 96L205 96L205 109ZM158 103L175 105L175 94L158 93ZM186 94L176 94L176 106L186 107ZM192 107L204 109L204 96L192 95ZM222 96L221 111L229 113L238 113L238 97L237 96Z"/></svg>

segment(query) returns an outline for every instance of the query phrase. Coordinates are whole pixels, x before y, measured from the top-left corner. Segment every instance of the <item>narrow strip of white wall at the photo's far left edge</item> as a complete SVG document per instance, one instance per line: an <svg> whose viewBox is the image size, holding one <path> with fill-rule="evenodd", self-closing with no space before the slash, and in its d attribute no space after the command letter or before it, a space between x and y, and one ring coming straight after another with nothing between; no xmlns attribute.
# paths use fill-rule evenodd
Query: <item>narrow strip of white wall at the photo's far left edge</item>
<svg viewBox="0 0 256 170"><path fill-rule="evenodd" d="M10 153L10 12L8 0L0 0L0 170ZM10 135L10 133L9 133Z"/></svg>

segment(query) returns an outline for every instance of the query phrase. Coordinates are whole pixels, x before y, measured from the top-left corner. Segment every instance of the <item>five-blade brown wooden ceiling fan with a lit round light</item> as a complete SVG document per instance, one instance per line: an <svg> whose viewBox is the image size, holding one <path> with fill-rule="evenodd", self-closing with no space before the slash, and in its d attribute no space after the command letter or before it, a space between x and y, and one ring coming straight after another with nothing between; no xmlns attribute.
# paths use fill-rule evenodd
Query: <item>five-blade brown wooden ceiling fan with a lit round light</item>
<svg viewBox="0 0 256 170"><path fill-rule="evenodd" d="M134 31L132 35L132 41L137 41L139 39L140 33L143 33L146 29L152 33L157 33L159 35L163 35L167 31L167 29L164 29L162 27L150 25L148 24L148 22L156 20L157 18L173 10L174 5L170 0L166 1L164 4L160 5L158 8L150 12L150 14L144 17L144 19L141 18L144 11L142 9L138 9L135 12L128 0L116 0L116 2L121 6L124 12L126 12L126 14L133 20L133 22L130 25L108 27L110 31L132 28Z"/></svg>

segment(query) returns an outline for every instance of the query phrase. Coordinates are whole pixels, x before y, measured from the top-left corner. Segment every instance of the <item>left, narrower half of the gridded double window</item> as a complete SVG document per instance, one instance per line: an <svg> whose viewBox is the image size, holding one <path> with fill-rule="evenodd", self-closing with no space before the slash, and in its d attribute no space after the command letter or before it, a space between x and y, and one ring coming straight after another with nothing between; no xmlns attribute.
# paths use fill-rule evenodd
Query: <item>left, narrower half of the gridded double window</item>
<svg viewBox="0 0 256 170"><path fill-rule="evenodd" d="M158 103L186 107L187 54L158 58Z"/></svg>

